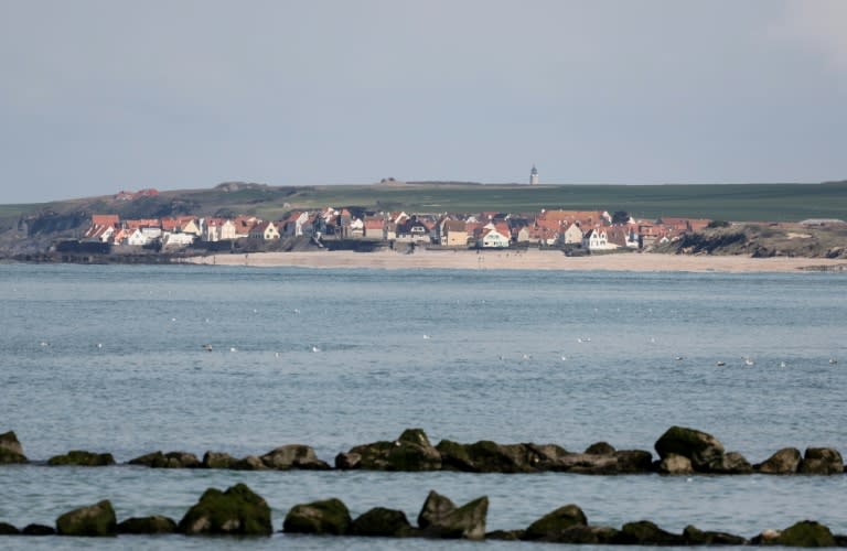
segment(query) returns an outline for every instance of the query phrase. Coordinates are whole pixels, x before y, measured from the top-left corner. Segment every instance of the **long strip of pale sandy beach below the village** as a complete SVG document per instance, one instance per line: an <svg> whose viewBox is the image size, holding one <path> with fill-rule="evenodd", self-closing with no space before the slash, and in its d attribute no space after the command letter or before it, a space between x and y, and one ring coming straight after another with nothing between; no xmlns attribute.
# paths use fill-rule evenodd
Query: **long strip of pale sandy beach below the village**
<svg viewBox="0 0 847 551"><path fill-rule="evenodd" d="M411 255L378 252L313 251L210 255L184 259L186 263L250 267L302 267L326 269L368 268L457 270L608 270L684 272L796 272L800 270L847 270L847 261L821 258L749 258L656 253L618 253L566 257L560 251L514 250L422 250Z"/></svg>

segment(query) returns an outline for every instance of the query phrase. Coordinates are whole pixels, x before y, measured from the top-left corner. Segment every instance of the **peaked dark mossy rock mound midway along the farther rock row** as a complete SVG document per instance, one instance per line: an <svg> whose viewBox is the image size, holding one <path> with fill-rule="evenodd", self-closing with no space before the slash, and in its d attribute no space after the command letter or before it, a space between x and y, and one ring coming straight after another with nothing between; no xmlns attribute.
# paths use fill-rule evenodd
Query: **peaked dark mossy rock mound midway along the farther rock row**
<svg viewBox="0 0 847 551"><path fill-rule="evenodd" d="M441 454L421 429L407 429L394 442L380 441L355 446L335 457L342 469L440 471Z"/></svg>

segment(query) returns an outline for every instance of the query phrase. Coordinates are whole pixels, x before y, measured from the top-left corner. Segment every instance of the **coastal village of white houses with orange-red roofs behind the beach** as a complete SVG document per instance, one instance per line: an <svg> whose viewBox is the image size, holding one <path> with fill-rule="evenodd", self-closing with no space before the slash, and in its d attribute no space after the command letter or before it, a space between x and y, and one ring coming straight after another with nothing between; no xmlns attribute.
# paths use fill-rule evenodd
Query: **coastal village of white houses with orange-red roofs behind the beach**
<svg viewBox="0 0 847 551"><path fill-rule="evenodd" d="M644 249L705 229L711 220L662 217L634 219L626 213L542 209L537 213L355 212L326 207L293 210L277 220L256 216L232 218L197 215L121 219L92 216L83 242L179 249L199 242L248 239L269 242L291 237L315 241L353 239L446 248L542 246L587 252Z"/></svg>

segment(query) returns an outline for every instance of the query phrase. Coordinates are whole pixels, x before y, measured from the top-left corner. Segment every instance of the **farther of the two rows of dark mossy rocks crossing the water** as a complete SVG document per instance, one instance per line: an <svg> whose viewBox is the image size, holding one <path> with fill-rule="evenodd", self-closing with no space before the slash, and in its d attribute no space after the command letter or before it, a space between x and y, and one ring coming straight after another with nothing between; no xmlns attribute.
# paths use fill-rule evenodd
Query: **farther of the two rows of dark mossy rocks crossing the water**
<svg viewBox="0 0 847 551"><path fill-rule="evenodd" d="M646 450L615 450L608 442L597 442L585 452L569 452L557 444L532 442L502 444L490 440L460 443L441 440L432 445L422 429L407 429L397 440L353 446L339 453L334 468L340 471L467 473L575 473L588 475L838 475L845 473L844 457L833 447L807 447L801 455L796 447L783 447L768 460L751 465L739 452L727 452L709 433L685 426L672 426L655 442L658 460ZM0 464L29 463L14 432L0 434ZM108 453L72 450L51 457L47 465L114 465ZM311 446L287 444L264 455L234 457L225 452L207 451L202 460L189 452L152 452L128 462L150 468L221 468L232 471L329 471L333 466L320 460Z"/></svg>

